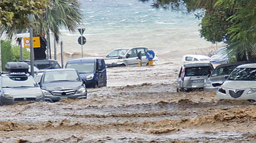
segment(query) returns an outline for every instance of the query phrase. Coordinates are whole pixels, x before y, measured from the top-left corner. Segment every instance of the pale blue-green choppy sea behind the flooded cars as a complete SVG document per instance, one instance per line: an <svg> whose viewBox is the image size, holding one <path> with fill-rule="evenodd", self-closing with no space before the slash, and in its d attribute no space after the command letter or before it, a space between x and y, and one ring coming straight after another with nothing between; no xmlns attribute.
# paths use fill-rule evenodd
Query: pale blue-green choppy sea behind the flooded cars
<svg viewBox="0 0 256 143"><path fill-rule="evenodd" d="M80 33L63 30L61 41L70 58L104 57L110 51L127 47L148 47L160 59L168 61L184 54L195 54L211 43L199 35L201 19L186 10L155 9L152 1L80 0L83 36L86 44L78 44ZM76 56L71 56L76 53Z"/></svg>

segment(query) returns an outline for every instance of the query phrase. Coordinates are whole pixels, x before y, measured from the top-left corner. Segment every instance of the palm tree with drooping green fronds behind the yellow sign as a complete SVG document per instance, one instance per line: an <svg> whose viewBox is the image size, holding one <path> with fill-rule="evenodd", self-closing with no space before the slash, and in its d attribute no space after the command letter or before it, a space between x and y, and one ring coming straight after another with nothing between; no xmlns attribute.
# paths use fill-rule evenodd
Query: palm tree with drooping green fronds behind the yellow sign
<svg viewBox="0 0 256 143"><path fill-rule="evenodd" d="M49 31L52 31L58 42L61 28L74 32L82 23L80 3L78 0L49 0L49 7L43 15L35 15L35 21L37 24L33 27L34 33L41 39L41 49L34 49L35 59L45 59L45 47L49 47Z"/></svg>

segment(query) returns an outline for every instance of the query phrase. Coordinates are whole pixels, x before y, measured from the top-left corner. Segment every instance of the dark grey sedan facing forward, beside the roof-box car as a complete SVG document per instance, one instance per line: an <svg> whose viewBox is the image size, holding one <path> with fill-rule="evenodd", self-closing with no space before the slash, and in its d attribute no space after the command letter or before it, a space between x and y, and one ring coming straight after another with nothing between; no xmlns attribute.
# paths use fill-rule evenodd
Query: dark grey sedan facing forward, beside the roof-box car
<svg viewBox="0 0 256 143"><path fill-rule="evenodd" d="M63 98L87 98L86 86L75 69L49 69L39 82L45 100L57 102Z"/></svg>

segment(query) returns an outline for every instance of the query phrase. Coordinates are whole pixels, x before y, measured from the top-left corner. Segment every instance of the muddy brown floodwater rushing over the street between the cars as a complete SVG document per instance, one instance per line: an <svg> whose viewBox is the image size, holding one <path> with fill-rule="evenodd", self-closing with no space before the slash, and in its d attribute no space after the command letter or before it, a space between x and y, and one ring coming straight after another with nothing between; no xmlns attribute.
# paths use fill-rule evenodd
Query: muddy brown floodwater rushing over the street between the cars
<svg viewBox="0 0 256 143"><path fill-rule="evenodd" d="M0 142L254 142L256 106L176 92L180 65L108 70L88 99L0 106Z"/></svg>

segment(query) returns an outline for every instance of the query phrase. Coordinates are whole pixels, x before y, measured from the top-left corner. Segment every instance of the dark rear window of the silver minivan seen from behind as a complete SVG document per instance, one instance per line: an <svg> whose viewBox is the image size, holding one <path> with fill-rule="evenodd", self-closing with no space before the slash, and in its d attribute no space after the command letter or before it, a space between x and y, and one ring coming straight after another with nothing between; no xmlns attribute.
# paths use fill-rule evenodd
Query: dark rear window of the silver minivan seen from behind
<svg viewBox="0 0 256 143"><path fill-rule="evenodd" d="M211 67L190 67L185 70L185 76L207 76L208 74L211 74Z"/></svg>

